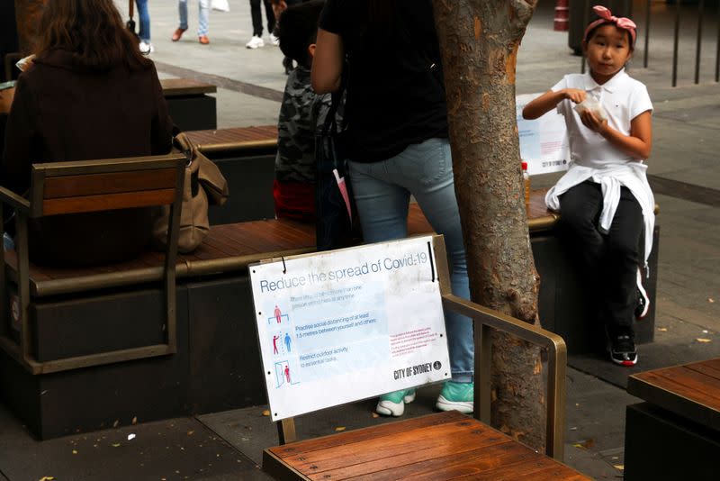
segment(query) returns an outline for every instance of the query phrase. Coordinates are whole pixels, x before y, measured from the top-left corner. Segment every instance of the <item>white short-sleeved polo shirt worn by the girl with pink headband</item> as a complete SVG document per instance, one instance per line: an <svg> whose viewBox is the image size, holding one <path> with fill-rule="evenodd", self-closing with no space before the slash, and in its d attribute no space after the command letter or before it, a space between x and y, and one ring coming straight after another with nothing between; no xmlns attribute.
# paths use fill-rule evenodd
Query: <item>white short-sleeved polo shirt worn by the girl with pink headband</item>
<svg viewBox="0 0 720 481"><path fill-rule="evenodd" d="M625 68L617 72L605 84L599 85L590 73L570 74L555 84L554 92L563 88L577 88L593 95L608 112L608 124L618 132L630 135L630 123L635 117L653 110L647 87L626 74ZM557 104L557 112L565 117L570 141L571 159L578 165L603 168L626 161L637 161L622 150L615 148L598 132L582 124L580 114L575 112L572 100Z"/></svg>

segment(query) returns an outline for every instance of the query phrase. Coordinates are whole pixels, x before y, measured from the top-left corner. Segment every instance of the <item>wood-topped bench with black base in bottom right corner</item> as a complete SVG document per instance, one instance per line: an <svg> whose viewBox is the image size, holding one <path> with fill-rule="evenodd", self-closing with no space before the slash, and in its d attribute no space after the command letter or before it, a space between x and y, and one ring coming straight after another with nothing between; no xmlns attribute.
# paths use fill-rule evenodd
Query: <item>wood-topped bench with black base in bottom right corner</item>
<svg viewBox="0 0 720 481"><path fill-rule="evenodd" d="M628 378L625 479L720 476L720 358Z"/></svg>

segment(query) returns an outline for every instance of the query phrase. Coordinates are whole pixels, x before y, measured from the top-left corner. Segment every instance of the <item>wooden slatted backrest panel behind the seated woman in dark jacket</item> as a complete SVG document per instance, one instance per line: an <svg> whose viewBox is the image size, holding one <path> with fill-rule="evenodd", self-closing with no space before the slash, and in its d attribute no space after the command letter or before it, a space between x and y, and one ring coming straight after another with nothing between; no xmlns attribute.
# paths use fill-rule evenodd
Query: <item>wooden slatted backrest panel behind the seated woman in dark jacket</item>
<svg viewBox="0 0 720 481"><path fill-rule="evenodd" d="M31 217L172 204L184 155L32 166Z"/></svg>

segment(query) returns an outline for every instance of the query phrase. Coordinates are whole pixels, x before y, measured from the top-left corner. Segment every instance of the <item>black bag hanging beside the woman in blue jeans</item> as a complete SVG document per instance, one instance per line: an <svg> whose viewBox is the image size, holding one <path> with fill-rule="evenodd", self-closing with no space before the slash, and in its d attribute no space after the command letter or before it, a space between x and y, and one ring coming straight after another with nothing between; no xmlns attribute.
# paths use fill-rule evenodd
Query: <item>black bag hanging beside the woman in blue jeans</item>
<svg viewBox="0 0 720 481"><path fill-rule="evenodd" d="M362 242L360 222L353 189L348 176L347 160L340 150L336 113L343 95L343 86L332 96L322 131L315 136L316 243L318 250L333 250ZM337 173L337 177L336 177ZM338 179L342 181L338 182ZM347 193L343 195L342 186ZM349 207L348 207L349 204ZM349 212L348 212L349 210Z"/></svg>

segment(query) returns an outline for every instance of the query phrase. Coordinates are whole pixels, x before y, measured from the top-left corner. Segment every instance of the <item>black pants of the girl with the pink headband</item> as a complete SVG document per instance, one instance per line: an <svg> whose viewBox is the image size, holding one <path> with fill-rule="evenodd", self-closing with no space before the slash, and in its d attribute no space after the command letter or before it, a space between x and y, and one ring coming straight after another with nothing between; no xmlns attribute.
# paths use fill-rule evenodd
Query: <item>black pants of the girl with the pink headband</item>
<svg viewBox="0 0 720 481"><path fill-rule="evenodd" d="M572 187L560 196L560 229L580 267L588 289L588 313L598 313L610 335L633 335L637 304L638 243L643 233L643 210L627 187L621 187L620 203L610 231L598 230L603 197L599 184L591 181Z"/></svg>

